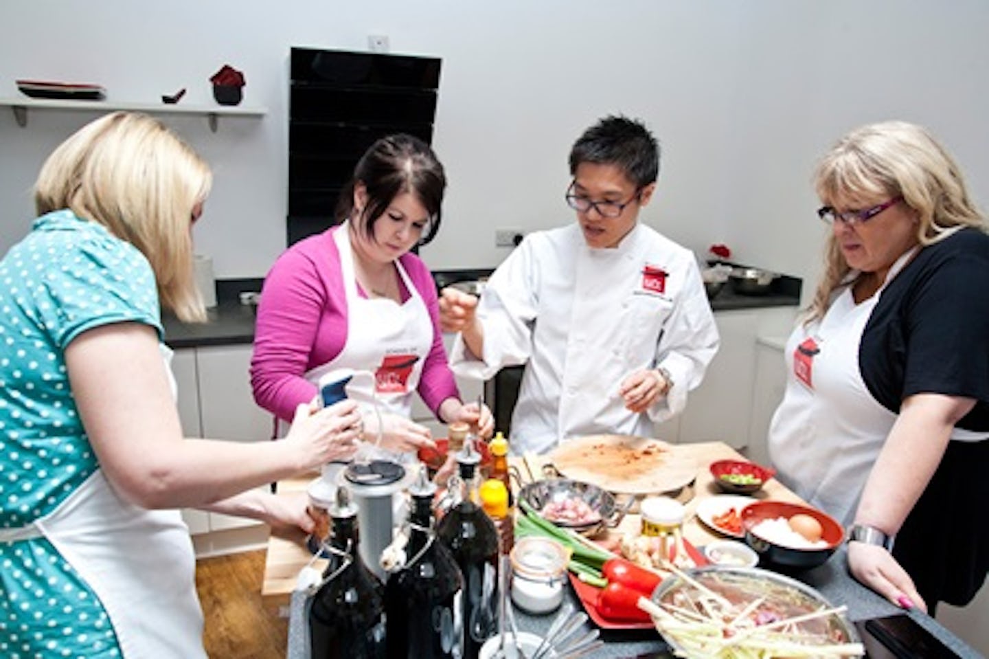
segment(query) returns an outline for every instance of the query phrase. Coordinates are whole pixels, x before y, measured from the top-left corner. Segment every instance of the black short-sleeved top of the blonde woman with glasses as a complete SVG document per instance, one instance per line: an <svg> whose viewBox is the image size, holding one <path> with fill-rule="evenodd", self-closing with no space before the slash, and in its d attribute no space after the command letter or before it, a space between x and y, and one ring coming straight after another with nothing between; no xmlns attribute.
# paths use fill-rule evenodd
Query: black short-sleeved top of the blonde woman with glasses
<svg viewBox="0 0 989 659"><path fill-rule="evenodd" d="M914 394L973 398L957 426L989 430L989 235L963 229L921 248L872 310L858 364L890 412Z"/></svg>

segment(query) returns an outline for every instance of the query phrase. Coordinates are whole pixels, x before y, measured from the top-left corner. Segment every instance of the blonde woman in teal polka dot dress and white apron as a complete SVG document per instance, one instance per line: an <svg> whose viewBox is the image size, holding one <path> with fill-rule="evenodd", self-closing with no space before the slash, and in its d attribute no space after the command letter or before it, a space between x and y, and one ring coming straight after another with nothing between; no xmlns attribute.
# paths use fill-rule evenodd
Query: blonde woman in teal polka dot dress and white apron
<svg viewBox="0 0 989 659"><path fill-rule="evenodd" d="M211 180L159 122L108 115L45 161L0 261L0 657L205 657L177 509L312 530L304 501L249 490L355 450L351 403L301 406L278 443L182 436L159 305L205 319Z"/></svg>

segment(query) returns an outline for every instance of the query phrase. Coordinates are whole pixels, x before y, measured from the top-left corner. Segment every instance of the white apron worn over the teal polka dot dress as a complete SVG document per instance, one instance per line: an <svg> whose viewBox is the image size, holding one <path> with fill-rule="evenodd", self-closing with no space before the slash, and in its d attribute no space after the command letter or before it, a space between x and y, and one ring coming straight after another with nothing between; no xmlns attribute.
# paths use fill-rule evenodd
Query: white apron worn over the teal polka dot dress
<svg viewBox="0 0 989 659"><path fill-rule="evenodd" d="M162 357L175 391L168 363ZM0 541L45 537L99 597L124 659L206 658L196 561L180 513L121 499L97 469L58 508Z"/></svg>

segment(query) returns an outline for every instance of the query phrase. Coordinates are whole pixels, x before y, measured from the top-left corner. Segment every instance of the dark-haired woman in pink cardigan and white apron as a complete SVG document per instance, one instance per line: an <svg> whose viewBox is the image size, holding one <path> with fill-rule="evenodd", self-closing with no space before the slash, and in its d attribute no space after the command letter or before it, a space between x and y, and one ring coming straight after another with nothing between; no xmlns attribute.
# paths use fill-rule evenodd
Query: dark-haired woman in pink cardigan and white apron
<svg viewBox="0 0 989 659"><path fill-rule="evenodd" d="M439 230L445 187L425 142L396 135L368 148L341 193L342 224L291 246L265 279L251 359L258 405L290 421L322 375L349 368L367 375L347 392L361 404L365 439L377 439L380 420L382 448L433 445L429 429L409 420L416 391L439 421L491 434L487 406L460 400L432 275L409 251Z"/></svg>

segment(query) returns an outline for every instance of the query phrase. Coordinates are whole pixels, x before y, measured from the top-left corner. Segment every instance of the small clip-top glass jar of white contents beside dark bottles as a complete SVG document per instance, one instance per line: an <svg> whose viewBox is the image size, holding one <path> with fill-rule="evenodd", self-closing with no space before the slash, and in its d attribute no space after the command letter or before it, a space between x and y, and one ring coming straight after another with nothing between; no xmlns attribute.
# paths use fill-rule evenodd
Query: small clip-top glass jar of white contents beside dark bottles
<svg viewBox="0 0 989 659"><path fill-rule="evenodd" d="M550 538L523 537L510 557L512 603L529 613L556 611L563 602L570 550Z"/></svg>

